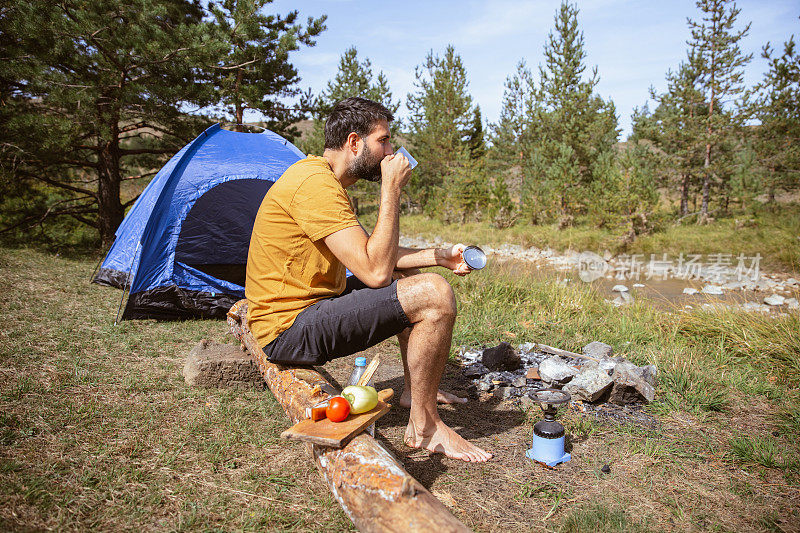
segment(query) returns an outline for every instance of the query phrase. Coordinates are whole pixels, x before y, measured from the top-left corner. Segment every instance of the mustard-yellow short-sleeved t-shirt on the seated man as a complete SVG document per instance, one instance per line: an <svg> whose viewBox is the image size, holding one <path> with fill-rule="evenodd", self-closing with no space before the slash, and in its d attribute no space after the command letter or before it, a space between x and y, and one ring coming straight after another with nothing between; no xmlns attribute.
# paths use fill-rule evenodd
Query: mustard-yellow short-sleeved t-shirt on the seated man
<svg viewBox="0 0 800 533"><path fill-rule="evenodd" d="M345 267L321 240L358 220L330 165L310 155L290 166L258 209L247 255L250 330L264 347L300 311L342 293Z"/></svg>

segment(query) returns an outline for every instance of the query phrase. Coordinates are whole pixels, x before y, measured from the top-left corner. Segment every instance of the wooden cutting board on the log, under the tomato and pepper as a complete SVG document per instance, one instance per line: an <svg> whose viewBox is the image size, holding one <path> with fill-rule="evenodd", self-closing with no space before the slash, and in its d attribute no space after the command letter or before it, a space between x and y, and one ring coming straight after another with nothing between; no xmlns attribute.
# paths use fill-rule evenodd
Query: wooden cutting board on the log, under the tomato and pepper
<svg viewBox="0 0 800 533"><path fill-rule="evenodd" d="M313 442L314 444L321 444L323 446L330 446L332 448L341 448L350 440L364 431L370 424L389 412L391 405L386 403L394 395L392 389L383 389L378 392L378 405L371 411L361 413L359 415L350 415L341 422L331 422L327 418L323 418L317 422L306 419L301 420L293 425L283 433L281 438L302 440L306 442Z"/></svg>

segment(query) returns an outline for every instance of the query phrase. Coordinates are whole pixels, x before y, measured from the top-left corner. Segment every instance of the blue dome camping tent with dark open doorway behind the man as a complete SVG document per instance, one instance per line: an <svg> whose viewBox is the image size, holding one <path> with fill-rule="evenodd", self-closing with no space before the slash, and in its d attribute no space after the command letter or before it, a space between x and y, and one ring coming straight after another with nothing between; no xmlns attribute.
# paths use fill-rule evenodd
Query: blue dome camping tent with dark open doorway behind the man
<svg viewBox="0 0 800 533"><path fill-rule="evenodd" d="M93 281L130 287L123 319L225 316L244 298L247 251L261 201L303 157L271 131L211 126L145 188Z"/></svg>

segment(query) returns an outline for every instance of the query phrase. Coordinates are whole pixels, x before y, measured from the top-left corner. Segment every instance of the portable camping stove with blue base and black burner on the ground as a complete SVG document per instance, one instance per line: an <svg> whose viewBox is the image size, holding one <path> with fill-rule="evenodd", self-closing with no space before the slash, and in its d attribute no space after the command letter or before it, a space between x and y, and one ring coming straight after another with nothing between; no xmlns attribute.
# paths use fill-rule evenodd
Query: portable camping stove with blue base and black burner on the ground
<svg viewBox="0 0 800 533"><path fill-rule="evenodd" d="M564 451L564 426L556 421L556 409L570 400L569 393L559 389L540 389L528 396L542 408L544 420L533 426L533 445L525 455L547 466L566 463L572 456Z"/></svg>

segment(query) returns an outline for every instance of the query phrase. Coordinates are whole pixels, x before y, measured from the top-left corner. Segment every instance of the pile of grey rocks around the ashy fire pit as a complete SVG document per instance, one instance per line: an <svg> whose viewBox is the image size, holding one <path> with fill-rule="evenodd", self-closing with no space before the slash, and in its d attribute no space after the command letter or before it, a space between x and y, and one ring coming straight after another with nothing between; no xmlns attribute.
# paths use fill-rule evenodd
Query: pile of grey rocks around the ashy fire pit
<svg viewBox="0 0 800 533"><path fill-rule="evenodd" d="M655 398L655 365L640 367L613 357L608 344L587 344L583 357L552 355L539 348L525 343L515 349L507 342L485 349L462 346L462 372L477 391L503 400L524 399L529 392L547 387L563 389L573 400L595 404L649 403Z"/></svg>

